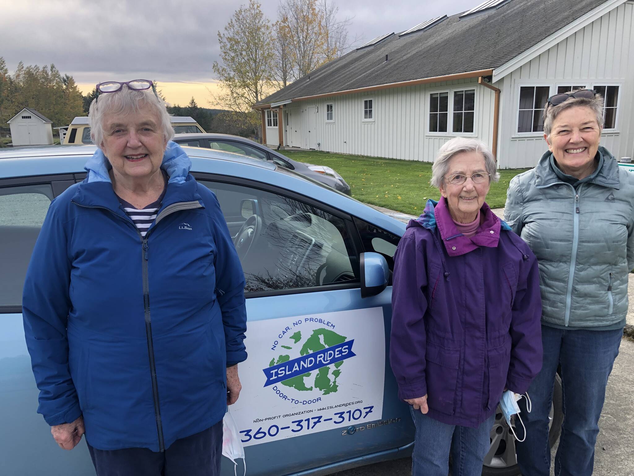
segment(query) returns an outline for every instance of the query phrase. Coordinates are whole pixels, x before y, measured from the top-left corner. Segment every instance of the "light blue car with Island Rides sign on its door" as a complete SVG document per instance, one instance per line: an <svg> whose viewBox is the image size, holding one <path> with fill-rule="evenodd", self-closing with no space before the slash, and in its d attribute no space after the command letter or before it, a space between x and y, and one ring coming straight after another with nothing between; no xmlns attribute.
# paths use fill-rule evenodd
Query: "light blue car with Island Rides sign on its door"
<svg viewBox="0 0 634 476"><path fill-rule="evenodd" d="M249 475L326 475L411 454L387 358L391 272L405 225L271 162L184 148L213 190L245 272L243 390L230 407ZM93 145L0 150L0 474L94 474L36 413L22 286L48 206L84 179ZM186 224L184 224L186 225ZM485 474L515 474L503 418ZM238 474L243 470L238 460ZM223 458L223 474L234 466Z"/></svg>

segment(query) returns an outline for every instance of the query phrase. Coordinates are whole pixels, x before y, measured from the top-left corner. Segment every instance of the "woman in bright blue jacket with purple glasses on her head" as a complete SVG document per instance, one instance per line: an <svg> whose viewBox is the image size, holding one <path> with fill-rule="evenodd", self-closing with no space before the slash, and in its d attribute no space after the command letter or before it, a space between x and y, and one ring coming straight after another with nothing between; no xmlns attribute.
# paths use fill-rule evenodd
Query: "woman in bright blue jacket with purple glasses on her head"
<svg viewBox="0 0 634 476"><path fill-rule="evenodd" d="M51 203L25 279L38 412L64 449L85 431L98 476L217 474L247 358L240 261L152 82L97 91L99 149Z"/></svg>

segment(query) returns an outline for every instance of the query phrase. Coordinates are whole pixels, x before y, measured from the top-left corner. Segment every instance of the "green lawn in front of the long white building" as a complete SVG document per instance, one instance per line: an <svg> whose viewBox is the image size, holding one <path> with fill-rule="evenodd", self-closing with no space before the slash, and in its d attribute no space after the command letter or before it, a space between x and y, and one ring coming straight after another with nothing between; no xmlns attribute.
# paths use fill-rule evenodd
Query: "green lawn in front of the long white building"
<svg viewBox="0 0 634 476"><path fill-rule="evenodd" d="M382 206L410 215L420 215L427 199L437 200L438 189L429 185L432 164L363 157L361 155L330 154L283 150L294 161L325 165L335 169L352 188L359 201ZM527 169L500 170L500 182L493 183L486 197L491 208L501 208L507 200L508 182Z"/></svg>

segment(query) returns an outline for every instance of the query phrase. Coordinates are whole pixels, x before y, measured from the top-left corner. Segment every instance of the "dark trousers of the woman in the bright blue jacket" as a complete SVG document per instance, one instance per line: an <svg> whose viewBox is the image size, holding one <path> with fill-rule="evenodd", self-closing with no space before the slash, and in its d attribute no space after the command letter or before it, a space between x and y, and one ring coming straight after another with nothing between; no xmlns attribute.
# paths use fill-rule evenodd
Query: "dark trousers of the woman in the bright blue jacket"
<svg viewBox="0 0 634 476"><path fill-rule="evenodd" d="M223 421L176 440L163 453L147 448L114 450L88 445L97 476L217 476L223 454Z"/></svg>

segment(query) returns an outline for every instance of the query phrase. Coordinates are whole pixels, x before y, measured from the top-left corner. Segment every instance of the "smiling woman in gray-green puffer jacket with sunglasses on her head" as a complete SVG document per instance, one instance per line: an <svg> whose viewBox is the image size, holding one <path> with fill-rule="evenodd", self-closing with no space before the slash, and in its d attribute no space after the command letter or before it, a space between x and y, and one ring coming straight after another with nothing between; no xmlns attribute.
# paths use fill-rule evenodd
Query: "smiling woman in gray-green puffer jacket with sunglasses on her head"
<svg viewBox="0 0 634 476"><path fill-rule="evenodd" d="M591 89L551 96L546 152L515 176L505 220L537 256L543 367L528 390L517 444L522 474L548 476L548 413L560 366L564 420L555 474L592 475L607 378L619 352L634 268L634 174L599 147L603 98ZM522 400L524 401L524 400Z"/></svg>

